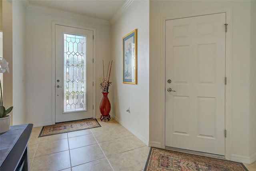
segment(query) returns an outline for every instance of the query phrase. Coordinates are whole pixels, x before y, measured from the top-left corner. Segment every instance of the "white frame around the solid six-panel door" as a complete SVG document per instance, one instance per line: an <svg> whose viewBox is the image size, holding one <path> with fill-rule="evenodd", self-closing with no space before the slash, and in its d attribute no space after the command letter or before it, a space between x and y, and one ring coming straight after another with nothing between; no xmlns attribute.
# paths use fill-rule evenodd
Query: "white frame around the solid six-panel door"
<svg viewBox="0 0 256 171"><path fill-rule="evenodd" d="M230 159L230 82L231 82L231 8L217 8L212 10L203 10L185 14L177 14L171 16L162 17L162 138L161 138L161 148L165 149L165 36L166 36L166 20L188 18L195 16L203 16L210 14L226 13L226 24L228 24L228 32L226 32L226 64L225 64L225 76L227 78L227 84L225 85L225 129L227 130L227 136L225 138L225 158ZM224 82L224 78L223 78ZM224 132L223 132L224 133Z"/></svg>

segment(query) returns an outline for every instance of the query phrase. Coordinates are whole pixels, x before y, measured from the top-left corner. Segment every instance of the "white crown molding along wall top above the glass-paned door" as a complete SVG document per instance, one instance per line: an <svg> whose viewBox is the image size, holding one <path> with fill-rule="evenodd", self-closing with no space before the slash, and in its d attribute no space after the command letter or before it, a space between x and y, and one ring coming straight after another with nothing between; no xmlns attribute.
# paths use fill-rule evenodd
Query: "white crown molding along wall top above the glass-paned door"
<svg viewBox="0 0 256 171"><path fill-rule="evenodd" d="M84 20L85 22L93 22L93 23L97 23L97 24L110 25L110 21L108 21L108 20L102 20L102 19L98 19L98 18L88 17L85 15L75 14L72 12L66 12L63 10L57 10L54 8L48 8L48 7L44 7L44 6L38 6L38 5L30 4L28 0L23 0L23 2L26 6L26 9L28 9L28 10L34 10L34 11L52 14L52 15L56 15L56 16L76 18L76 19Z"/></svg>

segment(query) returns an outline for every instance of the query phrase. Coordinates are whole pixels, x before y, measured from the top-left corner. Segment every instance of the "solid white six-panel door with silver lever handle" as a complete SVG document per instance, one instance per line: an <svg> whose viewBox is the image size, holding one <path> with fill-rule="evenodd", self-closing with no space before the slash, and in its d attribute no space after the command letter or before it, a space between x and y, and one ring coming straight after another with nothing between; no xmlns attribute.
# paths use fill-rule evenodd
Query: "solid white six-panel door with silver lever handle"
<svg viewBox="0 0 256 171"><path fill-rule="evenodd" d="M166 21L168 147L225 155L225 23L225 13Z"/></svg>

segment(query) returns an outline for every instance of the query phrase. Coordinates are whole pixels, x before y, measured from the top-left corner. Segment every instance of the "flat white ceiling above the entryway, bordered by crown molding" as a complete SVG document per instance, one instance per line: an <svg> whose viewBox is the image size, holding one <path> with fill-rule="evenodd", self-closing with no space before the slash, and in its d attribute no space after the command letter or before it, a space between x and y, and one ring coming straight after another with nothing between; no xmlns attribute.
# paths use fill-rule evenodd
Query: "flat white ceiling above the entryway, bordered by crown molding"
<svg viewBox="0 0 256 171"><path fill-rule="evenodd" d="M110 21L126 0L28 0L29 4Z"/></svg>

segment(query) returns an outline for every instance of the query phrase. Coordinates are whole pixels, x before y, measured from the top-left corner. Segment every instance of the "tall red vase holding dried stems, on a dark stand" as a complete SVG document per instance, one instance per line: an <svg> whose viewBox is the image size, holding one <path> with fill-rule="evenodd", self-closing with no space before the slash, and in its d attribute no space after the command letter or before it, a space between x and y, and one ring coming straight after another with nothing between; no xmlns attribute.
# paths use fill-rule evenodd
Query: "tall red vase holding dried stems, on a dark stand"
<svg viewBox="0 0 256 171"><path fill-rule="evenodd" d="M108 121L110 120L110 109L111 109L111 104L110 101L108 99L108 87L112 84L112 82L109 81L110 78L110 72L111 72L111 67L112 67L112 61L111 61L111 65L110 62L108 62L108 70L109 73L107 72L107 76L105 78L105 74L104 74L104 61L102 60L103 63L103 78L100 80L100 89L102 92L102 100L100 101L100 120L102 121L104 119L104 121L106 121L106 119L108 119ZM110 68L109 68L110 66Z"/></svg>

